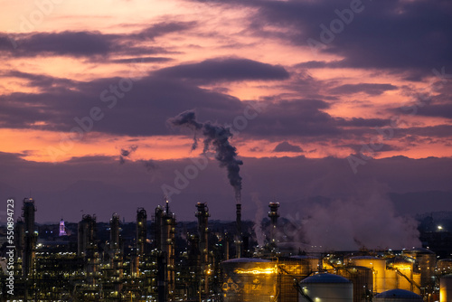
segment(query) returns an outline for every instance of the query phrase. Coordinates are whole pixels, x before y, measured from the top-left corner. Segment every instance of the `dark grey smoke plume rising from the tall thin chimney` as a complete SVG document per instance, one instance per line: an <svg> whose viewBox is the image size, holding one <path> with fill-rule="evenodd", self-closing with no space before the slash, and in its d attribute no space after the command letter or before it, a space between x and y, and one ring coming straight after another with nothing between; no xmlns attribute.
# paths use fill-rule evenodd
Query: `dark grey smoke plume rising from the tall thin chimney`
<svg viewBox="0 0 452 302"><path fill-rule="evenodd" d="M228 179L235 192L235 199L237 203L241 201L241 176L240 165L243 162L237 159L237 149L231 146L229 138L232 137L230 128L222 127L220 125L213 125L207 121L200 123L196 121L196 116L193 110L187 110L180 113L174 118L168 118L168 124L173 127L188 127L193 130L193 145L192 150L198 147L198 139L196 131L202 131L204 137L204 147L202 152L207 152L212 146L216 152L215 158L220 162L221 167L226 167L228 171Z"/></svg>

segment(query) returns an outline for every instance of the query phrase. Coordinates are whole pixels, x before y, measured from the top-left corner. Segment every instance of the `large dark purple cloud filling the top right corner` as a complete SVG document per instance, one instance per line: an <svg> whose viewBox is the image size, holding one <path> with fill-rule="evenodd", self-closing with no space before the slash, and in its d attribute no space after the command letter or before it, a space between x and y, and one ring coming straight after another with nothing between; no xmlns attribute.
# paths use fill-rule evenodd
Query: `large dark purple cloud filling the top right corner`
<svg viewBox="0 0 452 302"><path fill-rule="evenodd" d="M232 0L225 5L257 8L250 18L249 32L263 37L309 47L313 39L325 52L344 58L342 67L422 71L431 75L432 68L450 66L452 57L452 3L447 0L361 2L363 10L324 41L324 24L341 20L335 10L350 9L351 2L339 1L258 1ZM336 22L337 23L337 22ZM268 25L279 31L271 32ZM336 25L337 26L337 25ZM430 45L430 46L428 46ZM318 66L318 65L317 65ZM419 73L418 73L419 76Z"/></svg>

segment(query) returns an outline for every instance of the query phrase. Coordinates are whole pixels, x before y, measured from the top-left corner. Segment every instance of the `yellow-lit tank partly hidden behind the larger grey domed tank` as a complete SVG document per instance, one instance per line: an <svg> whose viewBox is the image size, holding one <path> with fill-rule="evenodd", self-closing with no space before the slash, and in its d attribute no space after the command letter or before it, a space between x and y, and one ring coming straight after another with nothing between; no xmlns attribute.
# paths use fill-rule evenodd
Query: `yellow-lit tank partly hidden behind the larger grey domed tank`
<svg viewBox="0 0 452 302"><path fill-rule="evenodd" d="M372 256L355 256L348 258L349 265L373 269L373 292L386 290L386 260Z"/></svg>

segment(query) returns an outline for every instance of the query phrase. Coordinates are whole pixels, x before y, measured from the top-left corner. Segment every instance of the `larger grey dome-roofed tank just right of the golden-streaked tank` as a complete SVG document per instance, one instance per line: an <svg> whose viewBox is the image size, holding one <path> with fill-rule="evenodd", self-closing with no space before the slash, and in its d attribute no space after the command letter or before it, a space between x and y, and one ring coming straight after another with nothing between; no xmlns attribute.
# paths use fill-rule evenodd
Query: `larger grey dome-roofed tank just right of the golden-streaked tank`
<svg viewBox="0 0 452 302"><path fill-rule="evenodd" d="M353 283L334 274L317 274L301 280L298 301L353 302Z"/></svg>

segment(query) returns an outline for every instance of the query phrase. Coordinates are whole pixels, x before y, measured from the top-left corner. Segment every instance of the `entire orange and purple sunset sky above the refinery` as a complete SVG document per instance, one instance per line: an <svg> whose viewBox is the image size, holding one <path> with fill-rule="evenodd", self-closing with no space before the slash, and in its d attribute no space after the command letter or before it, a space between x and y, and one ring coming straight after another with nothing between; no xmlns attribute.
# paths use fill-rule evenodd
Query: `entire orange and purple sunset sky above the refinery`
<svg viewBox="0 0 452 302"><path fill-rule="evenodd" d="M278 201L317 238L410 237L410 215L452 211L450 1L0 5L0 197L16 215L31 195L37 222L132 221L166 196L178 220L198 202L233 220L239 190L245 219Z"/></svg>

